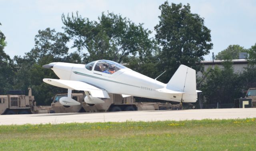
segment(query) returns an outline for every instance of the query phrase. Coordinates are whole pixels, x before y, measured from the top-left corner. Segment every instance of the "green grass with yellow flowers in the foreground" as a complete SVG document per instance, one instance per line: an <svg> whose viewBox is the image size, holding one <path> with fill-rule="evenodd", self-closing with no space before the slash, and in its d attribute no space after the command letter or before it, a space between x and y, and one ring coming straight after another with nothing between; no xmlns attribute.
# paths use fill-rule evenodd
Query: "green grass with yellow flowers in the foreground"
<svg viewBox="0 0 256 151"><path fill-rule="evenodd" d="M256 118L0 126L0 150L255 150Z"/></svg>

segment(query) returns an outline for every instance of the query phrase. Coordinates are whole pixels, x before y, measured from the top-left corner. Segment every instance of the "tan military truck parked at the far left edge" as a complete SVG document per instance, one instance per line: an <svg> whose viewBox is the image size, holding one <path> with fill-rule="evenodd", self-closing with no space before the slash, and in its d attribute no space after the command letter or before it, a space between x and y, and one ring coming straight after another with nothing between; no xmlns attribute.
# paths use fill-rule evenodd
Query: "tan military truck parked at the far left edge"
<svg viewBox="0 0 256 151"><path fill-rule="evenodd" d="M36 106L31 88L28 88L28 96L21 90L11 90L7 95L0 95L0 115L49 112L50 107Z"/></svg>

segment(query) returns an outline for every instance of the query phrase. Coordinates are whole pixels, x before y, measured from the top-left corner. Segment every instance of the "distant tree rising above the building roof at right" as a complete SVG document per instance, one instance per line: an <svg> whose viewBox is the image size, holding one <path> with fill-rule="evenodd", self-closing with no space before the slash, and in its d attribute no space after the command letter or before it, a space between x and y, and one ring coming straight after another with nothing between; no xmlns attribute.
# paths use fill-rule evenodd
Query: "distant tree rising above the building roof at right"
<svg viewBox="0 0 256 151"><path fill-rule="evenodd" d="M244 47L239 45L229 45L228 48L222 50L215 56L216 60L233 60L239 59L240 52L246 52L247 50Z"/></svg>

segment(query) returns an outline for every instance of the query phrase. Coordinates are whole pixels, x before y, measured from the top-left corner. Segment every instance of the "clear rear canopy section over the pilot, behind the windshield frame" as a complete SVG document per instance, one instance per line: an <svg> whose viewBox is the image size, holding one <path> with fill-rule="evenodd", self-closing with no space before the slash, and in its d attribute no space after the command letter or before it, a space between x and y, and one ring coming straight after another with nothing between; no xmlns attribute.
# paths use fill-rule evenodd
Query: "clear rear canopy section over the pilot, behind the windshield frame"
<svg viewBox="0 0 256 151"><path fill-rule="evenodd" d="M95 71L103 72L106 74L114 74L118 70L126 68L125 66L112 62L110 60L99 60L94 67Z"/></svg>

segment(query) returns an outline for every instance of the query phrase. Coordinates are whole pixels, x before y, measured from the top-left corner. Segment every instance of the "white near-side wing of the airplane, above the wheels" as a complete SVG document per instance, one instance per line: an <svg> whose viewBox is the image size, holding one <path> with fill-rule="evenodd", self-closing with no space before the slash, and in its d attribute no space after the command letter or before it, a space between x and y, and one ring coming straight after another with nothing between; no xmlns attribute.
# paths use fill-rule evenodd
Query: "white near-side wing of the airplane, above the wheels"
<svg viewBox="0 0 256 151"><path fill-rule="evenodd" d="M78 90L78 91L90 91L92 97L110 98L108 92L105 89L101 89L94 85L82 81L71 81L62 79L43 79L45 83L54 85L57 87L63 87L66 89Z"/></svg>

